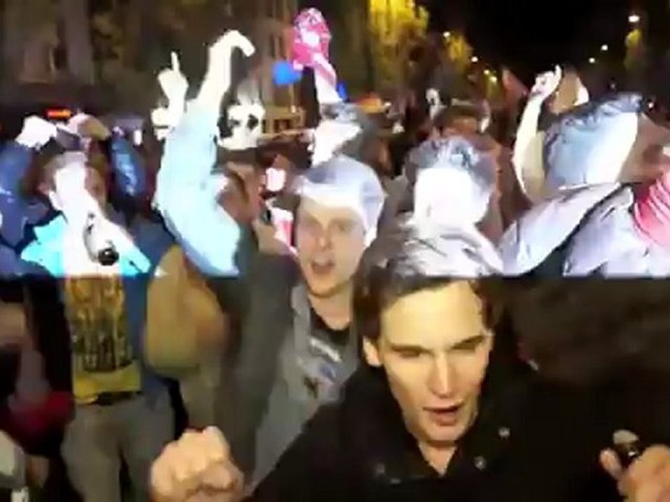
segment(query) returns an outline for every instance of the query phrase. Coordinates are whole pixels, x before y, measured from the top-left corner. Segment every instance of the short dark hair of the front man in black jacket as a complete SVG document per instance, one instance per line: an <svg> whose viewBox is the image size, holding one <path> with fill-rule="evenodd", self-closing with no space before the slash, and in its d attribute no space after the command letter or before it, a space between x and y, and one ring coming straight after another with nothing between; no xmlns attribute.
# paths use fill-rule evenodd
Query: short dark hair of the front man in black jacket
<svg viewBox="0 0 670 502"><path fill-rule="evenodd" d="M502 303L496 299L498 279L440 274L439 265L435 275L425 271L421 254L436 249L440 238L421 238L416 227L405 225L389 229L366 250L354 280L354 325L360 337L378 340L382 311L399 298L460 281L467 281L482 301L486 327L493 329L498 324L502 312Z"/></svg>

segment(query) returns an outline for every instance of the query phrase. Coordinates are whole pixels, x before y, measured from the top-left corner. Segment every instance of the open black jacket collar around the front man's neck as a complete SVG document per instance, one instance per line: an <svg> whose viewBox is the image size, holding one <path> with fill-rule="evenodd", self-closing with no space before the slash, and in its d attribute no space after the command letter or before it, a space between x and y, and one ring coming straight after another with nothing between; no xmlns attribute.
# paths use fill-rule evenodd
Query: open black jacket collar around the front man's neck
<svg viewBox="0 0 670 502"><path fill-rule="evenodd" d="M496 389L500 387L496 386ZM389 390L382 371L362 367L352 377L345 393L347 427L354 430L353 448L364 459L360 473L375 484L399 485L431 480L439 474L429 466L408 432L401 409ZM477 476L505 454L522 423L523 404L528 395L525 382L512 383L506 390L486 393L479 416L459 441L445 476Z"/></svg>

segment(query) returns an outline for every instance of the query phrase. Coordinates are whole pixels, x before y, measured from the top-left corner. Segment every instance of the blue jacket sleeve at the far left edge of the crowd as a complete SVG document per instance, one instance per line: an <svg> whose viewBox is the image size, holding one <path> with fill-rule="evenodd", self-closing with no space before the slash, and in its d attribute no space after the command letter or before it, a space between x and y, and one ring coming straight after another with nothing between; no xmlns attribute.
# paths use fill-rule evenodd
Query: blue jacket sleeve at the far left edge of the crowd
<svg viewBox="0 0 670 502"><path fill-rule="evenodd" d="M49 209L38 199L27 199L21 193L21 182L32 159L32 151L16 142L10 142L0 152L0 235L10 246L20 243L25 227L44 218Z"/></svg>

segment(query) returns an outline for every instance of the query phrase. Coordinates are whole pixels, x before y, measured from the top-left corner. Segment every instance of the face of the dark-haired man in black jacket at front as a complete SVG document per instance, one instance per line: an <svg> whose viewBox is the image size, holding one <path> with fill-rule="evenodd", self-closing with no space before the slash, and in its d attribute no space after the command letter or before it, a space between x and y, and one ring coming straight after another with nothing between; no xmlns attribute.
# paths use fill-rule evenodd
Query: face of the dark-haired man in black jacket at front
<svg viewBox="0 0 670 502"><path fill-rule="evenodd" d="M364 340L382 367L422 451L450 448L477 414L493 336L470 282L401 296L382 310L378 340Z"/></svg>

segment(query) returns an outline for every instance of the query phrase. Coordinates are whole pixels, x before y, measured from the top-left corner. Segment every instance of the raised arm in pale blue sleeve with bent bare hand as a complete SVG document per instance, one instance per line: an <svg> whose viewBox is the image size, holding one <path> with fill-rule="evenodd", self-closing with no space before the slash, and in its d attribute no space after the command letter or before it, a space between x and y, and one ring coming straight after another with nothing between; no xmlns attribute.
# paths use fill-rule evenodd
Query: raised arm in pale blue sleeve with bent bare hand
<svg viewBox="0 0 670 502"><path fill-rule="evenodd" d="M188 258L207 275L239 274L235 255L241 229L208 189L216 161L216 124L230 87L230 58L235 48L246 56L254 52L251 42L238 31L225 33L210 47L200 93L165 143L154 195L154 205L168 228ZM181 72L174 65L173 59L172 76L179 84L177 74Z"/></svg>

